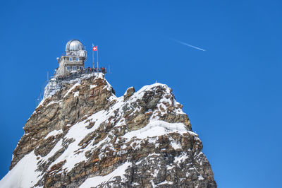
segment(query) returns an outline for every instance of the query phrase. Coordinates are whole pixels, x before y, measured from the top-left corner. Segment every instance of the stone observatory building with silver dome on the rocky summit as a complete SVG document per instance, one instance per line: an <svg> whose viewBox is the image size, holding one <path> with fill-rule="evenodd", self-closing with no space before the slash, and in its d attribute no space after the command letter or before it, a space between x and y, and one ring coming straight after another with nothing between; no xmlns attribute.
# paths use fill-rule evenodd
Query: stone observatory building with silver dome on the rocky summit
<svg viewBox="0 0 282 188"><path fill-rule="evenodd" d="M56 76L67 76L85 69L87 52L79 40L70 40L66 44L66 54L57 57L59 69Z"/></svg>

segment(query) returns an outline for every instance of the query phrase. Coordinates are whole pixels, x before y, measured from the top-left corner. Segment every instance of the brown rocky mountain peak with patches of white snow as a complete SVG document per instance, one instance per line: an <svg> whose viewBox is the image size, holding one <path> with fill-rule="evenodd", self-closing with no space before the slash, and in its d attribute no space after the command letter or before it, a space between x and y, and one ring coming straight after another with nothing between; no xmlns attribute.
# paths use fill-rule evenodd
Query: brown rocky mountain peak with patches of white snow
<svg viewBox="0 0 282 188"><path fill-rule="evenodd" d="M216 187L168 86L119 98L102 74L60 86L27 120L0 187Z"/></svg>

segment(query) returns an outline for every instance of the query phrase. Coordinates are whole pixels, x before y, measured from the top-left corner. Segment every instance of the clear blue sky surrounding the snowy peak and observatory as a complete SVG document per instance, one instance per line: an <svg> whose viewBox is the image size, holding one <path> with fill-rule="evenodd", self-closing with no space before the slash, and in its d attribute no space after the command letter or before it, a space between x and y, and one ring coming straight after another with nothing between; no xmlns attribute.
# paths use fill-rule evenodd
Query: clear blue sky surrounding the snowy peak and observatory
<svg viewBox="0 0 282 188"><path fill-rule="evenodd" d="M68 40L118 96L173 88L219 187L281 187L282 1L2 1L0 177ZM173 40L206 49L201 51Z"/></svg>

